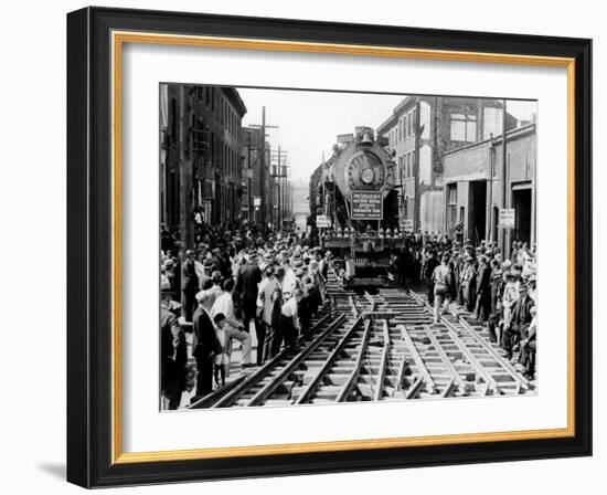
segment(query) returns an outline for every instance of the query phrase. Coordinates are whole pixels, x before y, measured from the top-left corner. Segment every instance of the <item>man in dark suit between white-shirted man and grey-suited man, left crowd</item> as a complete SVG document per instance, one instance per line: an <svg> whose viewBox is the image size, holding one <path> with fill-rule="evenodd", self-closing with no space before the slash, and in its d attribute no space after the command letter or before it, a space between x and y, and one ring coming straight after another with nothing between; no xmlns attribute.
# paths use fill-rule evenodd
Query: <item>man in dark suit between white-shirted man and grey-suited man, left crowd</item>
<svg viewBox="0 0 607 495"><path fill-rule="evenodd" d="M264 362L263 349L264 349L264 336L262 335L262 328L259 322L257 322L257 295L259 293L258 284L262 282L262 271L258 266L258 257L256 252L251 252L246 256L246 263L241 266L238 271L238 277L236 280L236 294L243 309L243 325L245 331L249 331L251 322L255 327L255 335L257 336L257 365Z"/></svg>

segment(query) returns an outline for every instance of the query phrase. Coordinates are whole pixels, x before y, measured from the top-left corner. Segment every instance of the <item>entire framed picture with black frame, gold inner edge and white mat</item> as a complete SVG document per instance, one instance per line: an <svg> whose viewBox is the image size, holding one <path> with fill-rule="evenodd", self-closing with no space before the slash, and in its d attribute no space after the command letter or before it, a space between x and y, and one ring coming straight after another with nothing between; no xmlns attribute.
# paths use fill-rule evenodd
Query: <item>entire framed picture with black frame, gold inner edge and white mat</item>
<svg viewBox="0 0 607 495"><path fill-rule="evenodd" d="M67 15L67 478L592 454L590 40Z"/></svg>

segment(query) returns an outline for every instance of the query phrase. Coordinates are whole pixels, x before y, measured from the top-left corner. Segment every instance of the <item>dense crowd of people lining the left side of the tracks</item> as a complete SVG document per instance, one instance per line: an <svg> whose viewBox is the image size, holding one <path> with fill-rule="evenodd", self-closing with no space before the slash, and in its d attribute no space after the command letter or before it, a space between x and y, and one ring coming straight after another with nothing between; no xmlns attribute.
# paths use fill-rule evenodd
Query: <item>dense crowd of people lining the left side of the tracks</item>
<svg viewBox="0 0 607 495"><path fill-rule="evenodd" d="M331 252L313 246L305 234L209 227L195 249L182 251L162 231L163 409L188 406L224 386L234 343L245 369L262 366L283 348L296 349L326 303L331 263Z"/></svg>

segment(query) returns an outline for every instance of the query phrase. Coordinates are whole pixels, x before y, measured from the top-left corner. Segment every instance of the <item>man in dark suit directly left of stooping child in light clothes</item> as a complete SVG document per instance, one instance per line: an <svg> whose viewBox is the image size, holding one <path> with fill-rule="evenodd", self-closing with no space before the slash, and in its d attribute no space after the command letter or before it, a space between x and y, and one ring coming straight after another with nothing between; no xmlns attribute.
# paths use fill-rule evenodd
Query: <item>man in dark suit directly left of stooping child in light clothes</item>
<svg viewBox="0 0 607 495"><path fill-rule="evenodd" d="M196 396L206 396L213 391L213 365L217 337L213 320L201 303L193 317L192 356L196 360L199 371L196 378Z"/></svg>

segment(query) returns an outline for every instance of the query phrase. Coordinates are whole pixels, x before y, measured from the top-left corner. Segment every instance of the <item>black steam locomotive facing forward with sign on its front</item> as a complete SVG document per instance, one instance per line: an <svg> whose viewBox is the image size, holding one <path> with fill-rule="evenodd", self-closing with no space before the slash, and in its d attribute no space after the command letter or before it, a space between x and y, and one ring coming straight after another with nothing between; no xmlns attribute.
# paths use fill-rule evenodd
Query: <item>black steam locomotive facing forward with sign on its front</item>
<svg viewBox="0 0 607 495"><path fill-rule="evenodd" d="M390 284L390 256L402 239L395 164L387 140L370 127L338 136L310 178L311 227L344 270L347 285Z"/></svg>

